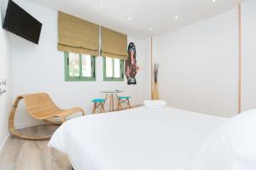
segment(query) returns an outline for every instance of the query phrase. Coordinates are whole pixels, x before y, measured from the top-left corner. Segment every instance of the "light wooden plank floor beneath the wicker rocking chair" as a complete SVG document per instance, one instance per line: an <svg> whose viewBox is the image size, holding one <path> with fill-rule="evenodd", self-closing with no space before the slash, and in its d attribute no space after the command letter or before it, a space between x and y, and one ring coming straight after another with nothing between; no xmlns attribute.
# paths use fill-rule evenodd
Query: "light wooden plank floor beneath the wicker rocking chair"
<svg viewBox="0 0 256 170"><path fill-rule="evenodd" d="M22 129L22 132L45 135L53 133L55 129L56 126L41 125ZM71 170L67 156L50 149L48 141L30 141L10 136L0 153L0 170Z"/></svg>

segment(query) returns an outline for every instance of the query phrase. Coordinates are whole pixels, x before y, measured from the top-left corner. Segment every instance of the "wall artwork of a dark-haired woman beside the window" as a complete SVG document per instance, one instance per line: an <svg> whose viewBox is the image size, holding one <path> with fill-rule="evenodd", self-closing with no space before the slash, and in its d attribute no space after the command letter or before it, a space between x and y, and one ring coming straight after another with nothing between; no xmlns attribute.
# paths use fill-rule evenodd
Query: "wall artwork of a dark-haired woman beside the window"
<svg viewBox="0 0 256 170"><path fill-rule="evenodd" d="M139 70L136 59L136 47L133 42L128 46L128 59L125 61L125 77L127 78L127 84L137 84L136 74Z"/></svg>

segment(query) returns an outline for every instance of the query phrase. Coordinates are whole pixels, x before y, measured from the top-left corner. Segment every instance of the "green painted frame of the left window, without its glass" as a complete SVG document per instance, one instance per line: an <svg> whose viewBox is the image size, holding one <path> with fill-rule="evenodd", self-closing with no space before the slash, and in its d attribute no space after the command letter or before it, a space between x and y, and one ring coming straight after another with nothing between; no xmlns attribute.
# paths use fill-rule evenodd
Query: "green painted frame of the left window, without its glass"
<svg viewBox="0 0 256 170"><path fill-rule="evenodd" d="M91 59L91 77L81 77L82 75L82 54L79 54L79 75L80 77L69 76L69 53L64 52L65 57L65 82L96 82L96 57L90 56Z"/></svg>

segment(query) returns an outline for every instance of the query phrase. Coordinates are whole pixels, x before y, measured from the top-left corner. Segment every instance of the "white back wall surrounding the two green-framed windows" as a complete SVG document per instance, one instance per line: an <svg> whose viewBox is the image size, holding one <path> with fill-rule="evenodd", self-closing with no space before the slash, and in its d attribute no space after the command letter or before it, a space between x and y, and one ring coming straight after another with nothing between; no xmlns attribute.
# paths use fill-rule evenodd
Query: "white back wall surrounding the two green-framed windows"
<svg viewBox="0 0 256 170"><path fill-rule="evenodd" d="M43 23L39 45L9 34L12 47L14 93L19 94L47 92L61 108L79 105L86 113L92 109L90 100L104 97L102 90L124 90L124 95L131 95L131 105L140 105L143 99L150 96L150 90L144 91L149 84L144 77L150 77L149 56L144 55L144 45L135 38L129 37L128 42L137 45L137 63L141 71L137 74L137 86L128 86L125 82L102 81L102 57L96 59L96 82L65 82L64 54L57 51L57 12L43 8L23 0L16 0L22 8ZM147 59L148 58L148 59ZM32 125L34 120L27 116L21 103L15 124L18 127Z"/></svg>

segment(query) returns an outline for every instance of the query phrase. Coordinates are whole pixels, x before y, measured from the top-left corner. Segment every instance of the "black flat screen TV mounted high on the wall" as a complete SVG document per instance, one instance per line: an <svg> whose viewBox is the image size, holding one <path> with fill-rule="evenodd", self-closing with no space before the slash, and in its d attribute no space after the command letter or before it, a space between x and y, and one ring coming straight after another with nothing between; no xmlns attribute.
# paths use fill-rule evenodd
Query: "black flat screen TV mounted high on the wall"
<svg viewBox="0 0 256 170"><path fill-rule="evenodd" d="M9 0L3 28L28 41L37 43L42 29L42 23L20 8L15 2Z"/></svg>

